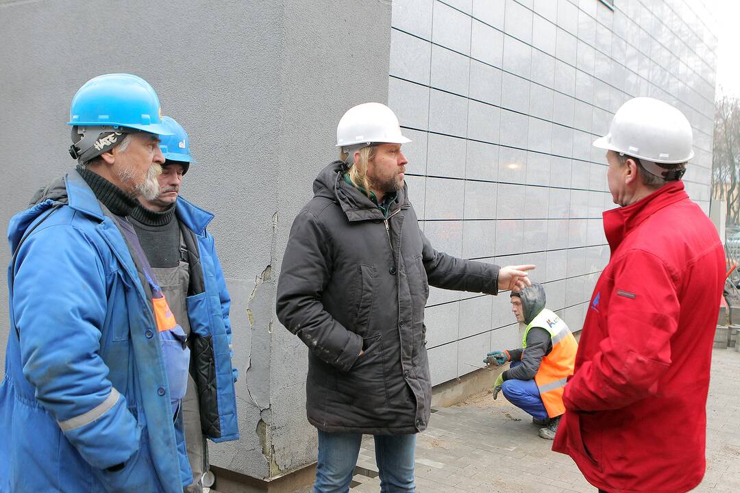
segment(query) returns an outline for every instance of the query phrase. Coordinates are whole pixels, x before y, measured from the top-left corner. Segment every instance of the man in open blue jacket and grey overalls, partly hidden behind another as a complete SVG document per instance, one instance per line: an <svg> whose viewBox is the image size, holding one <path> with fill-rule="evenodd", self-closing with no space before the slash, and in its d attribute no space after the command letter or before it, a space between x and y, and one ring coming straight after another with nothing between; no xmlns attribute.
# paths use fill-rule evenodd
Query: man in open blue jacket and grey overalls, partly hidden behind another
<svg viewBox="0 0 740 493"><path fill-rule="evenodd" d="M190 468L192 469L192 483L186 486L185 493L200 493L203 491L203 474L208 471L206 441L204 437L212 441L228 441L238 438L236 424L230 424L231 429L212 429L216 419L209 416L212 410L207 408L207 399L201 400L198 396L203 395L209 388L209 382L203 378L202 368L204 355L208 355L215 364L217 370L222 370L218 375L226 377L218 385L220 400L218 409L230 409L229 415L235 418L234 409L234 384L228 377L232 373L230 353L226 351L203 353L198 350L196 344L200 344L203 336L209 336L211 327L206 319L204 324L195 326L193 332L190 319L198 316L197 313L188 313L188 299L193 290L203 284L203 273L212 271L216 279L217 291L215 296L221 302L221 316L216 317L218 327L215 333L223 333L231 348L231 324L229 322L229 305L231 299L226 290L226 284L221 273L221 264L213 247L213 237L206 231L206 225L211 222L213 215L192 205L180 197L180 186L184 175L195 163L190 154L190 139L185 129L175 120L169 117L162 118L162 124L172 132L172 135L163 136L160 149L164 154L165 161L162 164L162 174L158 176L159 194L148 200L146 197L138 197L139 205L132 211L131 223L141 242L141 248L147 254L152 271L155 271L161 288L164 291L169 307L175 319L183 327L188 335L188 344L191 350L190 375L187 382L187 390L182 404L182 416L185 431L185 444ZM198 244L198 238L203 240L203 245ZM207 265L207 267L206 267ZM203 269L206 269L204 271ZM207 291L207 290L206 290ZM223 321L223 327L221 325ZM236 381L236 370L233 370L234 381ZM201 405L206 405L204 415L201 415ZM203 426L206 423L206 426Z"/></svg>

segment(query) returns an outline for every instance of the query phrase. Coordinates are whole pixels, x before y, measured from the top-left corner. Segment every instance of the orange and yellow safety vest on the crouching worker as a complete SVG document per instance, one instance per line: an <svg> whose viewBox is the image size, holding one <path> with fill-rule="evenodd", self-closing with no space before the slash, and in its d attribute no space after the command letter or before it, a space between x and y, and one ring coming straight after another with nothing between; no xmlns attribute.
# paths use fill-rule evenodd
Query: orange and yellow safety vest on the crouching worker
<svg viewBox="0 0 740 493"><path fill-rule="evenodd" d="M562 404L562 393L565 391L565 382L568 376L573 375L573 366L576 363L578 343L573 337L568 325L559 316L547 308L543 309L529 322L522 338L522 347L527 347L527 334L532 327L540 327L550 333L553 349L550 354L542 358L539 370L534 375L542 404L548 411L550 418L562 415L565 406Z"/></svg>

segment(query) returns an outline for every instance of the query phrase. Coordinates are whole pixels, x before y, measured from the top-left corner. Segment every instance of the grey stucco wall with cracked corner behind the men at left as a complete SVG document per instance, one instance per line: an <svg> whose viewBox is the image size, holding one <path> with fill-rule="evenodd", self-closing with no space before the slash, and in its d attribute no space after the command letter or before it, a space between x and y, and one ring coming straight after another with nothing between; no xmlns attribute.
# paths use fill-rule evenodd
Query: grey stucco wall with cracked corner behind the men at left
<svg viewBox="0 0 740 493"><path fill-rule="evenodd" d="M340 116L387 101L390 23L383 0L0 1L3 230L36 188L73 167L64 123L95 75L147 79L164 114L189 132L198 164L183 195L216 215L209 230L232 295L240 370L242 438L210 447L218 466L275 477L315 460L306 349L277 322L275 283L292 219L336 156ZM1 242L0 265L9 259Z"/></svg>

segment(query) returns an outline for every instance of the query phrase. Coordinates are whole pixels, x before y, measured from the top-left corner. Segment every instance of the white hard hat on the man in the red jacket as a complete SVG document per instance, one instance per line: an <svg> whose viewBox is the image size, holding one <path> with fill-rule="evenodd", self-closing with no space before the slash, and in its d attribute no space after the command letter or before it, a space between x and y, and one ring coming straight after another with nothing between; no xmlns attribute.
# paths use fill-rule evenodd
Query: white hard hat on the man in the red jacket
<svg viewBox="0 0 740 493"><path fill-rule="evenodd" d="M653 163L685 163L693 157L693 132L684 114L653 98L633 98L616 110L609 133L594 147Z"/></svg>

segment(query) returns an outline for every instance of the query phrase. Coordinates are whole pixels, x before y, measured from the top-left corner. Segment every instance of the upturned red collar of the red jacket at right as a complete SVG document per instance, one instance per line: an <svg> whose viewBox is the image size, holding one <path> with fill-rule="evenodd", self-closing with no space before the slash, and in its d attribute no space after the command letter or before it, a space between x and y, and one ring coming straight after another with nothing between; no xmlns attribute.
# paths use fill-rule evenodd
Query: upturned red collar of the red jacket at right
<svg viewBox="0 0 740 493"><path fill-rule="evenodd" d="M609 242L613 254L622 240L639 226L642 221L652 216L656 211L666 205L687 199L689 196L684 191L684 183L681 180L668 183L652 194L638 200L627 207L619 207L606 211L604 217L604 233Z"/></svg>

